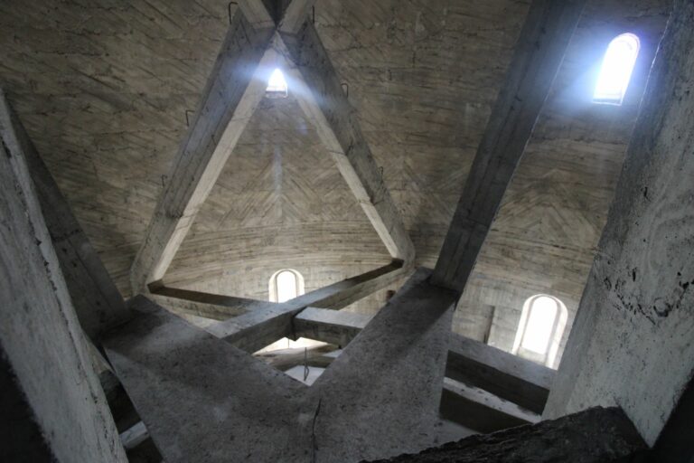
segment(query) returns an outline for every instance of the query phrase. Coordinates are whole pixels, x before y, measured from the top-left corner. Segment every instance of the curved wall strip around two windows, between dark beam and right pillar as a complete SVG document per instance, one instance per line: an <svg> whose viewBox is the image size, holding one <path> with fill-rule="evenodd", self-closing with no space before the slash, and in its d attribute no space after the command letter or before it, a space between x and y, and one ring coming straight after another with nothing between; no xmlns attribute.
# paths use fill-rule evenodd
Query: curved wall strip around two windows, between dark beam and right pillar
<svg viewBox="0 0 694 463"><path fill-rule="evenodd" d="M523 303L549 294L569 312L563 351L670 7L587 2L455 313L457 333L511 351ZM625 32L638 34L641 51L624 104L595 104L607 44Z"/></svg>

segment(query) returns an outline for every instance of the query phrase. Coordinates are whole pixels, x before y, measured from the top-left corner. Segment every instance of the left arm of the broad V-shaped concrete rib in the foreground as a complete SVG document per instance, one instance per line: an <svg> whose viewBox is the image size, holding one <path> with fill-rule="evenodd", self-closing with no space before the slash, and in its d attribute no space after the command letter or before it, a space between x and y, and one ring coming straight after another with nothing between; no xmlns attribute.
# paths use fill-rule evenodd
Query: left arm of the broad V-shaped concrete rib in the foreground
<svg viewBox="0 0 694 463"><path fill-rule="evenodd" d="M307 461L302 383L145 297L132 308L104 345L165 461Z"/></svg>

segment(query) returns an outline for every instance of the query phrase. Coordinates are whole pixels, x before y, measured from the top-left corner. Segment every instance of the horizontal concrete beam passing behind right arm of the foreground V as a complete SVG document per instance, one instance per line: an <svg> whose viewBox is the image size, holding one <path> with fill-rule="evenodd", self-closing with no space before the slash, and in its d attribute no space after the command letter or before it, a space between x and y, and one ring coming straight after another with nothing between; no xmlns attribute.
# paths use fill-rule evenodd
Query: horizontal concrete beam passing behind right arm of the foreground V
<svg viewBox="0 0 694 463"><path fill-rule="evenodd" d="M296 336L346 345L369 322L368 317L310 307L294 318ZM478 341L451 334L445 375L541 413L554 370Z"/></svg>

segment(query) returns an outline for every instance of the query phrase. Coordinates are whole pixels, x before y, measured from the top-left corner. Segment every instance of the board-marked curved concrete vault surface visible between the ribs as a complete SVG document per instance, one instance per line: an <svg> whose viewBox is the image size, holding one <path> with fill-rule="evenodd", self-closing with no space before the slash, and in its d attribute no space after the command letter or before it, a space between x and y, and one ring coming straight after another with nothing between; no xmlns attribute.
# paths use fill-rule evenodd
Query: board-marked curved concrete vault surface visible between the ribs
<svg viewBox="0 0 694 463"><path fill-rule="evenodd" d="M316 28L417 264L436 263L529 4L316 2ZM456 312L456 331L509 349L525 298L553 294L575 311L668 2L624 4L588 2ZM0 4L0 82L124 295L186 111L196 107L226 32L228 5ZM630 93L622 107L593 105L606 43L625 31L642 38ZM277 269L299 269L313 289L388 261L290 95L262 102L165 279L267 298Z"/></svg>

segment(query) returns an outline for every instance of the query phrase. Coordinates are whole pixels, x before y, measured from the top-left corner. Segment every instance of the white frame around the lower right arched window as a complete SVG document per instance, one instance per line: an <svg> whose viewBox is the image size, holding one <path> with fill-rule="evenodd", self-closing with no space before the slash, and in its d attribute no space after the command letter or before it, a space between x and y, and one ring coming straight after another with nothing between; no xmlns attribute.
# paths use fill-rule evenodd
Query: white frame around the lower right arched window
<svg viewBox="0 0 694 463"><path fill-rule="evenodd" d="M530 313L533 309L534 304L539 298L549 298L556 305L557 310L555 312L555 317L552 322L552 330L549 335L549 345L544 353L536 353L529 349L523 347L523 338L528 334L528 325L530 322ZM557 360L557 354L559 352L559 346L561 345L561 338L564 335L564 329L567 327L568 311L567 307L558 298L554 296L549 296L549 294L536 294L528 298L523 304L523 310L521 313L521 321L518 324L518 331L516 332L516 338L513 343L512 354L519 355L523 358L537 362L539 364L544 364L550 368L555 368L555 362Z"/></svg>

